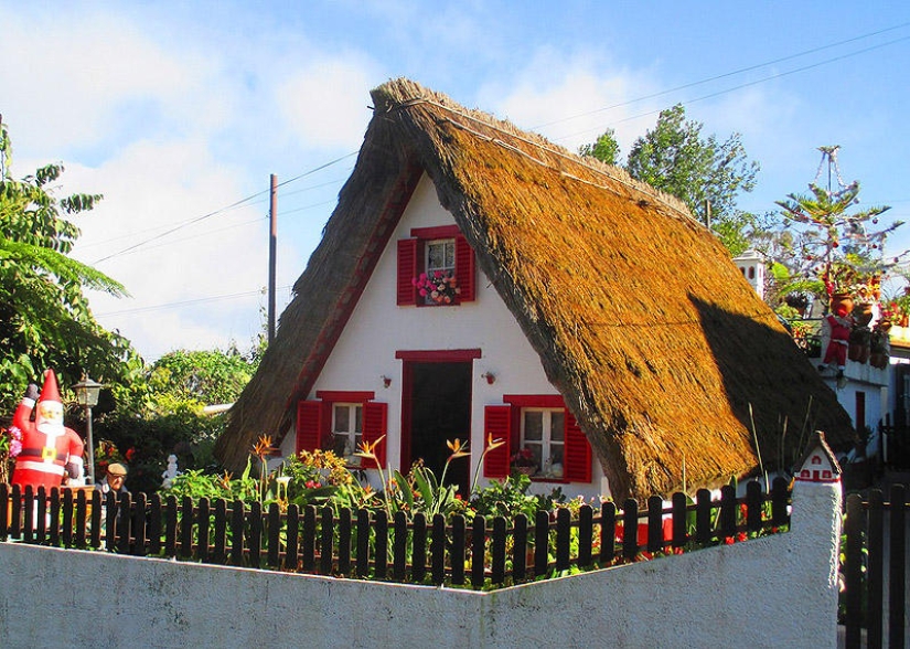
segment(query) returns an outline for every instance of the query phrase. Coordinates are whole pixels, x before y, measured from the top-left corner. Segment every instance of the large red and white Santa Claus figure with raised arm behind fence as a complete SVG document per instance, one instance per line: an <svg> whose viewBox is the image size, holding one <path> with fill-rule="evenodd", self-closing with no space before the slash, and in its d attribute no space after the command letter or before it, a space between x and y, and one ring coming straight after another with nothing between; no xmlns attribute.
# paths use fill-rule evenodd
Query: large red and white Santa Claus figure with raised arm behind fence
<svg viewBox="0 0 910 649"><path fill-rule="evenodd" d="M34 422L32 411L38 408ZM25 396L13 415L13 425L22 432L22 451L15 458L12 483L35 489L61 487L68 478L69 485L83 485L83 441L75 430L63 425L63 402L57 391L57 377L53 370L44 372L41 397L38 385L30 384Z"/></svg>

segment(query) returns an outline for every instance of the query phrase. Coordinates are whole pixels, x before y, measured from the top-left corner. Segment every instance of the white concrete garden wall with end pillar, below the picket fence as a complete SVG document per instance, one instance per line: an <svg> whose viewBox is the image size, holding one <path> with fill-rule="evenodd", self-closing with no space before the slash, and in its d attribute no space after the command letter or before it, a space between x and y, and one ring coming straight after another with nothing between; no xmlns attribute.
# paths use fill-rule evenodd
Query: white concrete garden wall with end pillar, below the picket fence
<svg viewBox="0 0 910 649"><path fill-rule="evenodd" d="M0 646L835 647L839 485L792 531L491 593L0 543Z"/></svg>

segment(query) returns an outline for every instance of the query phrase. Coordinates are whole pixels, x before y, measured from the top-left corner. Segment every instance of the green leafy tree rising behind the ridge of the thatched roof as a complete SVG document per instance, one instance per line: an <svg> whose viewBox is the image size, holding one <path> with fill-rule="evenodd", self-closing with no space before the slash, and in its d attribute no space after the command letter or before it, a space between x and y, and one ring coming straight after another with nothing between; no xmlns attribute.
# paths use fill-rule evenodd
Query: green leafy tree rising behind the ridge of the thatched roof
<svg viewBox="0 0 910 649"><path fill-rule="evenodd" d="M756 228L756 217L737 210L736 201L740 192L754 189L759 163L748 160L739 134L720 142L715 135L703 137L702 128L686 119L681 104L662 110L654 129L632 145L625 170L683 201L702 222L709 204L711 228L736 256L749 247ZM610 129L579 152L610 161L619 146Z"/></svg>

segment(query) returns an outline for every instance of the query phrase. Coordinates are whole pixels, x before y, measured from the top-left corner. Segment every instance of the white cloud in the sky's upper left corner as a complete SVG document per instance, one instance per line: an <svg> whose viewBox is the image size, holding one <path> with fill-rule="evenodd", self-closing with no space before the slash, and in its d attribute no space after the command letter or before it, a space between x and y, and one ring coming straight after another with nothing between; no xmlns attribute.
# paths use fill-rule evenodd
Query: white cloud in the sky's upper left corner
<svg viewBox="0 0 910 649"><path fill-rule="evenodd" d="M142 123L211 124L221 113L197 89L212 62L172 53L127 18L0 9L0 60L14 62L0 68L0 87L15 88L4 98L6 120L38 150L97 146Z"/></svg>

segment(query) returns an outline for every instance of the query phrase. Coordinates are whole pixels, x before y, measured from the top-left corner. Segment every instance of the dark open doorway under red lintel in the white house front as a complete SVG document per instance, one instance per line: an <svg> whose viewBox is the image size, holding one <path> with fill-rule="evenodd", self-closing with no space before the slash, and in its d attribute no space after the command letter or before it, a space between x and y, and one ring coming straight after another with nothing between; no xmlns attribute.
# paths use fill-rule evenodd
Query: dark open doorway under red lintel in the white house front
<svg viewBox="0 0 910 649"><path fill-rule="evenodd" d="M471 362L405 362L402 470L417 460L442 476L447 440L471 437ZM452 460L446 482L468 497L471 458Z"/></svg>

